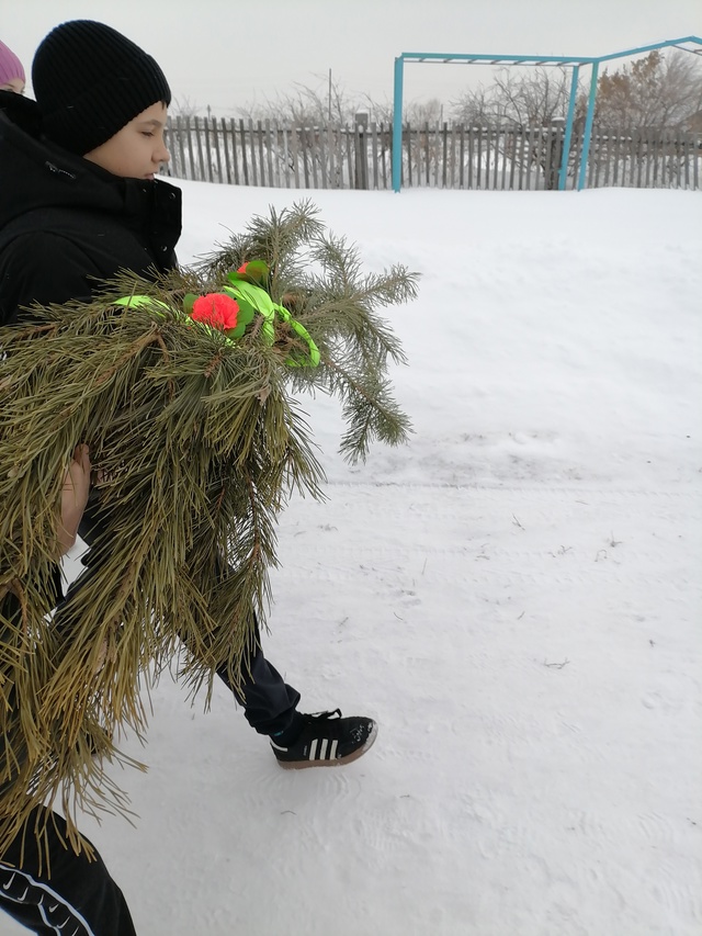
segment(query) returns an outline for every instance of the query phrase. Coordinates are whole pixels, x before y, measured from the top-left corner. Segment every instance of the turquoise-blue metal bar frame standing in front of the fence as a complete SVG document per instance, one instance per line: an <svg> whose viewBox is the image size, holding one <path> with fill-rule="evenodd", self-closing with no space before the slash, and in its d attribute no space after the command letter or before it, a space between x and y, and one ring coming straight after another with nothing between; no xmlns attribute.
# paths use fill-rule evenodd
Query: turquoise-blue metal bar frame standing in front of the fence
<svg viewBox="0 0 702 936"><path fill-rule="evenodd" d="M439 52L404 52L395 59L395 93L393 109L393 189L399 192L401 188L401 159L403 159L403 86L405 77L405 63L439 63L442 65L458 63L466 65L556 65L564 68L573 68L570 81L570 97L568 100L568 114L566 117L565 135L563 139L563 165L558 172L559 191L566 188L566 173L568 168L568 156L570 154L570 140L573 137L573 122L575 120L575 105L578 91L580 68L586 65L592 67L590 77L590 91L588 94L588 110L585 119L585 133L582 136L582 158L578 174L578 191L586 188L588 156L590 153L590 138L592 136L592 121L595 117L595 102L597 98L597 83L599 68L603 61L612 61L616 58L630 58L658 48L677 46L684 48L684 44L702 46L699 36L684 36L679 40L665 40L664 42L642 45L637 48L629 48L624 52L614 52L611 55L599 56L565 56L565 55L471 55L471 54L444 54ZM695 55L702 55L702 49L684 48Z"/></svg>

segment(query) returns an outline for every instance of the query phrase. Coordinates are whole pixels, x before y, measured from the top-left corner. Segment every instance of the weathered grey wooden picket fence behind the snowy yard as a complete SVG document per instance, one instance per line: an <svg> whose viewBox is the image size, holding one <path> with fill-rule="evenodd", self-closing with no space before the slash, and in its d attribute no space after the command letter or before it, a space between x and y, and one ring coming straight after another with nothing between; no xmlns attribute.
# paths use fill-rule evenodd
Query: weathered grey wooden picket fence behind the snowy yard
<svg viewBox="0 0 702 936"><path fill-rule="evenodd" d="M169 117L168 174L235 185L392 189L392 127L291 127L271 121ZM437 124L403 131L403 187L543 190L558 188L564 129ZM575 188L582 136L570 143ZM702 135L637 131L592 134L589 188L700 189Z"/></svg>

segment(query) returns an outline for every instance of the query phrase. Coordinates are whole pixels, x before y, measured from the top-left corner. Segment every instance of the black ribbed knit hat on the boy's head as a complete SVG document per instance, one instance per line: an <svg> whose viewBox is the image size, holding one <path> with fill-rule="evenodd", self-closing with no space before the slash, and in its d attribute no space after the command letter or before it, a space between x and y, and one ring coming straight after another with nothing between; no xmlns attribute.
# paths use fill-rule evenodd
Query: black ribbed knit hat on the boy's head
<svg viewBox="0 0 702 936"><path fill-rule="evenodd" d="M84 156L151 104L171 102L158 64L122 33L72 20L36 50L32 84L46 136Z"/></svg>

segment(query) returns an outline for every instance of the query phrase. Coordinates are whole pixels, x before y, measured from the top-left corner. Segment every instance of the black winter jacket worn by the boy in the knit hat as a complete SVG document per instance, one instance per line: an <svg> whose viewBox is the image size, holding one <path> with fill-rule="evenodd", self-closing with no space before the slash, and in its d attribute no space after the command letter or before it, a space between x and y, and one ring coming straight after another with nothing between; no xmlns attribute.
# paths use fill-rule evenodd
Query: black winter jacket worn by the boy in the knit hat
<svg viewBox="0 0 702 936"><path fill-rule="evenodd" d="M0 92L0 325L35 302L89 300L123 270L172 269L180 232L180 189L60 149L34 101Z"/></svg>

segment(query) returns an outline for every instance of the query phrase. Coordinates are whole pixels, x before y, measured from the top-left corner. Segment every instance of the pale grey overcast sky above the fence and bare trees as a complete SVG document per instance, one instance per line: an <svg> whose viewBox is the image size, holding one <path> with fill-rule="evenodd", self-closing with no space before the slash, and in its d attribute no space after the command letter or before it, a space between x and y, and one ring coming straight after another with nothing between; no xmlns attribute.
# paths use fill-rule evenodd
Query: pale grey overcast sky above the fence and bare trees
<svg viewBox="0 0 702 936"><path fill-rule="evenodd" d="M392 100L403 52L588 56L702 36L702 0L0 0L0 38L29 77L42 38L72 19L138 43L177 101L231 115L295 82L325 88L329 69L350 95ZM449 103L478 80L489 72L407 65L405 99Z"/></svg>

